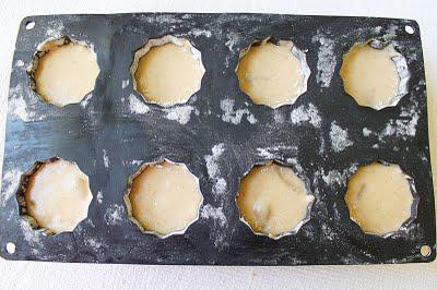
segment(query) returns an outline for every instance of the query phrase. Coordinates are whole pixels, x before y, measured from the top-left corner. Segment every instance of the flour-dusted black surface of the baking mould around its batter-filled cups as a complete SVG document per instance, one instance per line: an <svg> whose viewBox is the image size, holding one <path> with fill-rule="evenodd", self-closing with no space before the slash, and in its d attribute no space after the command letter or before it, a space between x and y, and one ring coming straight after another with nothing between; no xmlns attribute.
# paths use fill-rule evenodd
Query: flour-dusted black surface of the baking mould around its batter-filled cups
<svg viewBox="0 0 437 290"><path fill-rule="evenodd" d="M34 29L25 28L27 21L35 21ZM414 34L408 34L405 25ZM206 69L200 92L188 102L192 112L186 124L170 120L175 118L168 118L168 110L154 105L145 113L131 112L130 95L139 95L132 92L132 82L125 88L121 85L130 78L134 50L147 38L166 34L189 39L201 51ZM61 35L92 43L101 73L87 104L60 109L42 102L28 88L25 67L39 43ZM293 106L276 110L253 105L239 90L234 73L238 51L271 35L292 39L307 50L311 69L308 92ZM397 107L381 111L358 107L344 93L339 76L343 53L355 41L373 37L394 41L412 72L410 93ZM332 56L323 50L329 45ZM334 65L327 87L322 78L329 70L319 61L323 57ZM0 196L0 253L4 258L306 265L429 262L436 256L424 63L414 21L270 14L32 16L21 24L13 63ZM233 117L243 114L240 122L226 122L221 107L224 99L235 100L234 110L241 111ZM309 104L318 110L320 125L292 122L292 112ZM247 113L257 122L248 122ZM349 143L340 150L332 140L333 125L347 131ZM213 155L214 146L223 153ZM73 232L46 237L23 223L13 193L21 172L35 160L52 156L78 162L90 177L94 198L88 218ZM200 219L185 234L164 240L141 233L129 221L122 202L138 160L163 157L187 164L199 177L204 196ZM234 201L243 174L272 157L302 167L316 197L311 219L297 234L276 241L255 235L238 219ZM374 160L400 165L414 179L420 195L417 218L387 239L365 234L350 220L343 200L354 168ZM216 170L212 172L208 164ZM226 188L217 190L217 182L225 182ZM206 209L214 209L215 215ZM16 244L14 254L5 251L8 242ZM420 253L424 244L432 246L428 257Z"/></svg>

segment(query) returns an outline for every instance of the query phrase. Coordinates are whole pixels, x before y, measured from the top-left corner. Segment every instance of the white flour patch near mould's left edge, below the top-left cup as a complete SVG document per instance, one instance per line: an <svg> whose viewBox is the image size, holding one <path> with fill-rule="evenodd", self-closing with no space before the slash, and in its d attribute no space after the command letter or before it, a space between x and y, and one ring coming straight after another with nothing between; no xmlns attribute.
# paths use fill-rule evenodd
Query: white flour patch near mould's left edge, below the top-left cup
<svg viewBox="0 0 437 290"><path fill-rule="evenodd" d="M29 89L23 87L21 84L17 84L15 87L11 87L9 89L9 94L8 113L19 117L21 120L23 120L23 122L37 121L44 118L44 116L39 116L37 118L36 113L28 109L28 106L24 100L24 95L28 96L32 94ZM29 107L32 108L32 106Z"/></svg>

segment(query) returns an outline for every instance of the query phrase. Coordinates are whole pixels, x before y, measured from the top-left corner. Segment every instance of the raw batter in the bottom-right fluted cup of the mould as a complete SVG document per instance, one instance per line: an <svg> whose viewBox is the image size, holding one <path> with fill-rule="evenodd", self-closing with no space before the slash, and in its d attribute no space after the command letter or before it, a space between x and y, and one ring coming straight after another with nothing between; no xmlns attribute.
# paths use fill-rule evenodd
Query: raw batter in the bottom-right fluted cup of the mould
<svg viewBox="0 0 437 290"><path fill-rule="evenodd" d="M411 217L413 195L408 179L398 165L361 167L347 183L351 219L367 233L385 235L399 230Z"/></svg>

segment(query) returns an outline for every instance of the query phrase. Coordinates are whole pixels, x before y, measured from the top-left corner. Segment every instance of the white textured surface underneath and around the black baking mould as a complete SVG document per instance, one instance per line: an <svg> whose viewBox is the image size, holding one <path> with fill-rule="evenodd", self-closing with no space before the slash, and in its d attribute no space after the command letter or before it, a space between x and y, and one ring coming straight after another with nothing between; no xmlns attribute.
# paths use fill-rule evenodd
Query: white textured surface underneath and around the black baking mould
<svg viewBox="0 0 437 290"><path fill-rule="evenodd" d="M44 3L44 4L43 4ZM0 1L0 128L3 152L9 75L20 21L32 14L121 12L271 12L288 14L405 17L418 22L425 53L433 167L436 158L437 4L429 1ZM2 159L2 158L1 158ZM437 183L436 173L434 173ZM20 251L17 249L16 251ZM2 289L122 288L415 288L435 289L437 262L412 265L306 267L193 267L82 265L5 262L0 258Z"/></svg>

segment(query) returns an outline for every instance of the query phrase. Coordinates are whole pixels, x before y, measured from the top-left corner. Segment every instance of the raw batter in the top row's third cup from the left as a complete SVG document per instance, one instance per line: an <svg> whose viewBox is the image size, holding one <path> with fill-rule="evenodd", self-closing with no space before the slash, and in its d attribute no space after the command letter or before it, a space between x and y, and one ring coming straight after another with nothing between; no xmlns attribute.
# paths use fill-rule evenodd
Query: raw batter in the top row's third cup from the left
<svg viewBox="0 0 437 290"><path fill-rule="evenodd" d="M255 104L277 108L291 105L306 90L309 68L292 41L264 39L240 55L239 87Z"/></svg>

